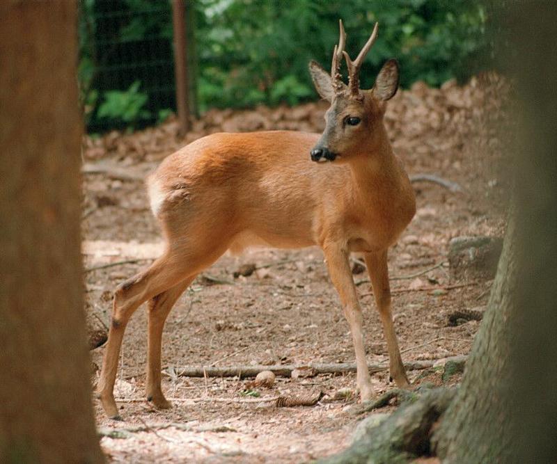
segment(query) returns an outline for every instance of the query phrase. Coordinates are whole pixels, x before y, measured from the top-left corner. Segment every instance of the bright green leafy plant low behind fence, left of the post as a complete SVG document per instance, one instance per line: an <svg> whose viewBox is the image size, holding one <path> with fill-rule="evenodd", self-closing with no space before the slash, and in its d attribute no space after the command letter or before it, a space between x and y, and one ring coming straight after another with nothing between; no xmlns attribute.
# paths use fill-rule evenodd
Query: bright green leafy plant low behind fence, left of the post
<svg viewBox="0 0 557 464"><path fill-rule="evenodd" d="M134 125L141 119L150 118L150 112L143 108L149 97L139 91L141 81L135 81L125 91L110 90L104 93L104 102L99 106L97 116L122 120L128 125Z"/></svg>

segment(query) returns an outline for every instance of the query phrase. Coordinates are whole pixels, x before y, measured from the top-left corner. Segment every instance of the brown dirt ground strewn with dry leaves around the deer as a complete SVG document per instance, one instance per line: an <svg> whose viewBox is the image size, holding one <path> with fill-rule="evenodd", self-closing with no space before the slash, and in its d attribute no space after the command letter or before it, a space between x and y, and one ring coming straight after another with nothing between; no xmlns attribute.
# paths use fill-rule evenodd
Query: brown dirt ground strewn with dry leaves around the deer
<svg viewBox="0 0 557 464"><path fill-rule="evenodd" d="M448 314L484 307L492 282L451 281L448 242L464 235L503 235L505 159L501 137L490 127L500 118L505 92L505 84L492 75L462 87L449 82L430 89L417 83L399 92L386 113L393 147L410 175L434 174L462 187L453 192L416 182L416 217L390 253L393 318L405 362L438 360L471 349L478 322L448 326ZM91 328L100 327L100 321L109 323L116 285L159 253L161 238L142 178L164 156L215 131L321 131L325 109L320 102L293 109L210 111L194 121L185 138L178 136L172 120L139 133L86 138L83 234ZM137 258L142 260L120 263ZM233 276L250 263L259 269L247 277ZM111 266L99 269L105 264ZM365 313L368 362L386 366L386 343L367 274L354 273L354 279L360 284ZM164 330L163 389L173 399L171 410L155 410L145 401L143 308L127 327L118 371L116 397L123 422L106 419L99 401L93 400L97 426L111 435L101 440L109 461L298 463L350 444L361 419L350 414L357 403L355 374L278 377L269 389L251 387L253 379L177 375L185 365L353 362L348 325L318 248L261 248L241 257L225 255L197 278L175 305ZM92 351L97 366L102 351ZM416 384L442 383L439 369L426 374L409 371ZM94 383L97 376L96 371ZM373 374L372 381L378 395L393 387L386 370ZM457 381L459 376L451 382ZM278 408L265 401L279 394L320 391L326 395L315 406ZM110 434L109 429L118 433Z"/></svg>

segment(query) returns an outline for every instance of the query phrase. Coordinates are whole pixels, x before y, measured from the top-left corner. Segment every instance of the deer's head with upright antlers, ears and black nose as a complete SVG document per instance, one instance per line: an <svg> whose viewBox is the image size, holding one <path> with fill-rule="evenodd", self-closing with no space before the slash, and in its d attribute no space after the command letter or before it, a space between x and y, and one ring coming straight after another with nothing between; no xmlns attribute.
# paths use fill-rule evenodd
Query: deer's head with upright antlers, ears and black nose
<svg viewBox="0 0 557 464"><path fill-rule="evenodd" d="M366 154L363 147L373 146L375 139L384 133L385 102L398 88L398 62L391 59L379 71L372 89L360 89L360 67L377 38L378 24L375 23L368 42L352 61L344 50L346 34L342 20L339 23L340 39L333 51L331 74L315 61L309 65L317 93L331 103L325 113L325 130L311 150L313 161L334 161ZM348 85L340 75L343 56L348 69Z"/></svg>

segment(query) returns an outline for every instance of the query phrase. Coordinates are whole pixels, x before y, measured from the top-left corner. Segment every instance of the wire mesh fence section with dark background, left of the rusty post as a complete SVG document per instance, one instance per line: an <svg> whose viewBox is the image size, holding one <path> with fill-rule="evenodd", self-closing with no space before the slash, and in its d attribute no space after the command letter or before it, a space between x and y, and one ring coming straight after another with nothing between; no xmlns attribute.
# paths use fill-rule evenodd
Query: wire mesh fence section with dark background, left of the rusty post
<svg viewBox="0 0 557 464"><path fill-rule="evenodd" d="M86 0L80 7L88 130L151 125L174 111L171 3Z"/></svg>

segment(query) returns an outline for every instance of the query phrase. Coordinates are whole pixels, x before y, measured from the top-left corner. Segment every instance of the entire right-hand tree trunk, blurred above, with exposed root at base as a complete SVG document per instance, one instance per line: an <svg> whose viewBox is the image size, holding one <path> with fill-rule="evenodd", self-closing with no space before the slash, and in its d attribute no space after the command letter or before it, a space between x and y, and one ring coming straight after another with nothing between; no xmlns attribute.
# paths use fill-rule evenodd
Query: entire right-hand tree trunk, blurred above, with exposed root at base
<svg viewBox="0 0 557 464"><path fill-rule="evenodd" d="M441 391L402 406L330 462L407 462L420 454L437 454L444 463L557 459L557 54L551 40L557 6L506 2L492 13L496 33L508 39L499 37L505 45L499 65L517 94L519 136L506 158L515 166L516 188L462 385L446 403L448 392ZM420 441L432 429L432 443Z"/></svg>

